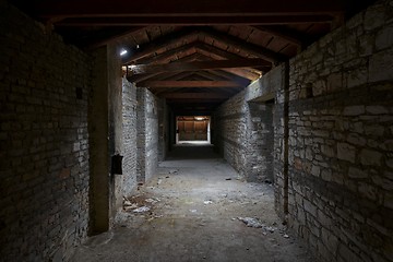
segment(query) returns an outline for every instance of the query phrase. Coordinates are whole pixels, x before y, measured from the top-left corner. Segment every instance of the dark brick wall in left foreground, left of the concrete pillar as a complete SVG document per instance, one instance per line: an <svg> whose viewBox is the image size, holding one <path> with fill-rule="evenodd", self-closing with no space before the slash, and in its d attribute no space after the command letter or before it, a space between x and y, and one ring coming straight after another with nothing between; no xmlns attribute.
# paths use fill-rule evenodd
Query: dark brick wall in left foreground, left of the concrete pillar
<svg viewBox="0 0 393 262"><path fill-rule="evenodd" d="M88 57L0 3L0 258L64 261L88 221Z"/></svg>

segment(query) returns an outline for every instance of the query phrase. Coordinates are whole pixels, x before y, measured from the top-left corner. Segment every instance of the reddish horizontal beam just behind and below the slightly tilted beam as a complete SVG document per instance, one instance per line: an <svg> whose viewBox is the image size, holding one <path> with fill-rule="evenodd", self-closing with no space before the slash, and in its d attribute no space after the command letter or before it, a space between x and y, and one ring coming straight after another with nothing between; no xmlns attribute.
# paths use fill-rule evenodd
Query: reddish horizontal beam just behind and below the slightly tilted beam
<svg viewBox="0 0 393 262"><path fill-rule="evenodd" d="M177 80L167 80L167 81L146 81L144 82L145 87L245 87L239 85L236 82L231 81L177 81Z"/></svg>

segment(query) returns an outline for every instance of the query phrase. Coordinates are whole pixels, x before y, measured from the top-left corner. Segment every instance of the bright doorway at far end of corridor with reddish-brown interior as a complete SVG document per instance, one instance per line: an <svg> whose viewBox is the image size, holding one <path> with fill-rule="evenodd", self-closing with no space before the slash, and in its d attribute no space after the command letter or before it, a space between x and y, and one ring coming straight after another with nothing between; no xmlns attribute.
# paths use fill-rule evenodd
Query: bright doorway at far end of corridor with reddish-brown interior
<svg viewBox="0 0 393 262"><path fill-rule="evenodd" d="M176 144L211 143L209 116L179 116L176 118Z"/></svg>

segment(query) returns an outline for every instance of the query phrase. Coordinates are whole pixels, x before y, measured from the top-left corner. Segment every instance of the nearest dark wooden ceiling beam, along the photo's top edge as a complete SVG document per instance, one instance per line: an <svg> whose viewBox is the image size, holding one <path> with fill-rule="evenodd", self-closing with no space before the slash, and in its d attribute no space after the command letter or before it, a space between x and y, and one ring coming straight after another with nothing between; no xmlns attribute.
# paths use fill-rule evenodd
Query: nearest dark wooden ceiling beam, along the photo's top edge
<svg viewBox="0 0 393 262"><path fill-rule="evenodd" d="M22 0L21 0L22 1ZM41 17L108 17L108 16L247 16L247 15L303 15L342 12L347 1L331 0L199 0L180 3L178 0L95 1L40 0L25 3Z"/></svg>

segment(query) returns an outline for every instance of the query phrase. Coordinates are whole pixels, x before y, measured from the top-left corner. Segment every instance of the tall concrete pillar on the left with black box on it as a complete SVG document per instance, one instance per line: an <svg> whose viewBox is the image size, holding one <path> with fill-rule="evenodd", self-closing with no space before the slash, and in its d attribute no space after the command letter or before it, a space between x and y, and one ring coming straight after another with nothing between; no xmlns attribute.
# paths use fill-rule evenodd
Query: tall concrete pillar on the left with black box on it
<svg viewBox="0 0 393 262"><path fill-rule="evenodd" d="M118 180L111 158L121 154L122 111L120 58L115 46L92 52L93 83L90 94L90 234L107 231L116 214Z"/></svg>

